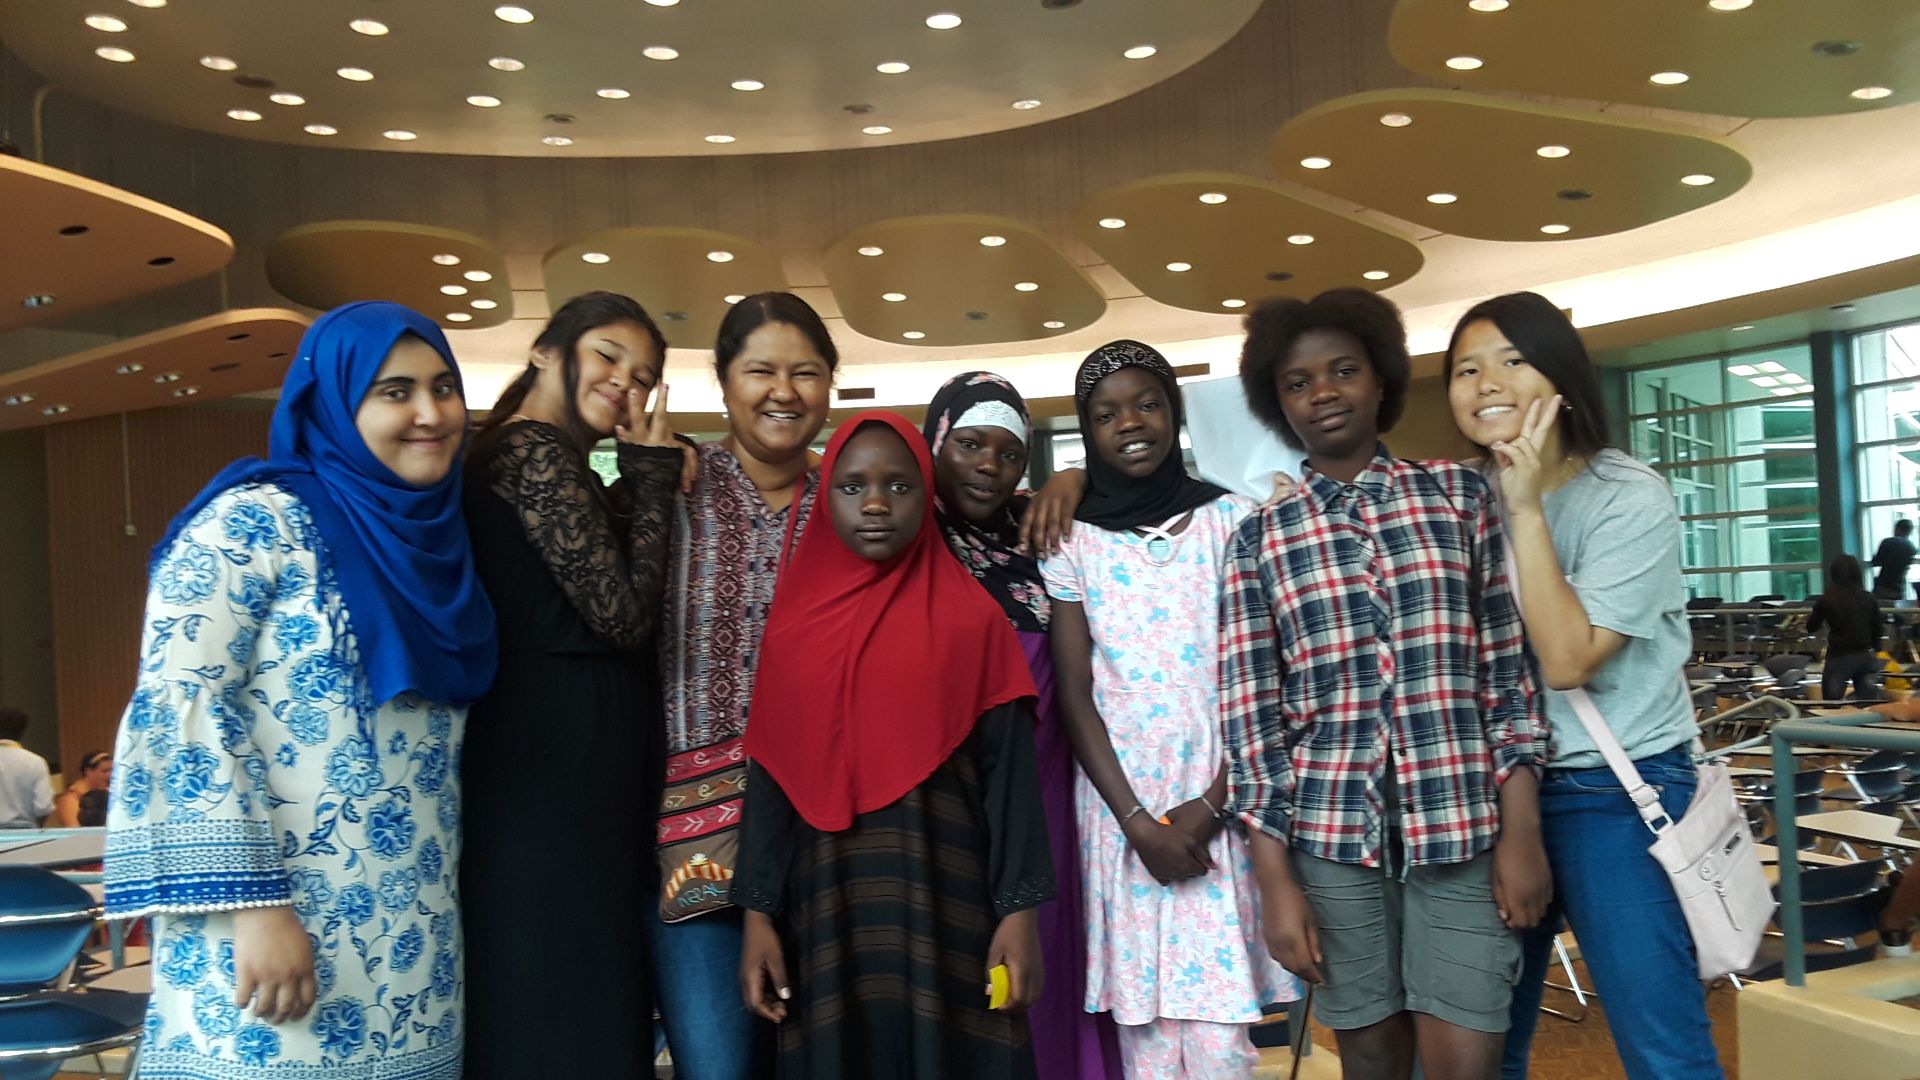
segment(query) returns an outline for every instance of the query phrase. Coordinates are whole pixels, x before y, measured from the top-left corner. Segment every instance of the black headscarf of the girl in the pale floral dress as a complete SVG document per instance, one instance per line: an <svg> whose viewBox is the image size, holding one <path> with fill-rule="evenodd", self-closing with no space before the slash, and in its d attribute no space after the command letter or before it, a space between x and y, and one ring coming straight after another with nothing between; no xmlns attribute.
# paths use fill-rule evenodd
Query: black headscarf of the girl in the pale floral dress
<svg viewBox="0 0 1920 1080"><path fill-rule="evenodd" d="M1152 477L1135 480L1106 463L1092 444L1092 421L1087 417L1087 400L1102 379L1121 367L1139 367L1150 373L1167 388L1167 405L1173 409L1175 444L1167 450L1160 469ZM1121 530L1140 525L1160 525L1175 519L1196 505L1210 503L1227 494L1225 488L1196 480L1187 473L1181 459L1179 434L1187 419L1181 404L1181 386L1175 380L1173 365L1152 346L1117 340L1092 350L1081 361L1073 377L1073 409L1081 421L1081 442L1087 446L1087 498L1073 517L1098 528Z"/></svg>

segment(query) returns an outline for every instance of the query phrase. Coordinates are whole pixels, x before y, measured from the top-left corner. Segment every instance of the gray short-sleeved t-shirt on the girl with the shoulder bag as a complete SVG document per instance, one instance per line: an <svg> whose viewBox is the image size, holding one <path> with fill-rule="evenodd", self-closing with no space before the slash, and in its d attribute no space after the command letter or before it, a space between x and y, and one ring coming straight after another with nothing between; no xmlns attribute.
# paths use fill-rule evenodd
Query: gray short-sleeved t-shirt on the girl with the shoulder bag
<svg viewBox="0 0 1920 1080"><path fill-rule="evenodd" d="M1680 578L1680 515L1659 473L1619 450L1544 500L1553 553L1586 617L1626 638L1586 684L1599 715L1632 759L1699 734L1680 673L1693 651ZM1565 694L1546 692L1555 769L1605 761Z"/></svg>

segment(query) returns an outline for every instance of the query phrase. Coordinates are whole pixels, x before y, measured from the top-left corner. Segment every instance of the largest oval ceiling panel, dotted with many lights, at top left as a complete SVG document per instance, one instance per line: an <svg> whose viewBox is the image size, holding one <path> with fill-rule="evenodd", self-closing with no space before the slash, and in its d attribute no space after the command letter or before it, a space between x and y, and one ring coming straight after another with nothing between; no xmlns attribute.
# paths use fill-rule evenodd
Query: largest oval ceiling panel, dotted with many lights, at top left
<svg viewBox="0 0 1920 1080"><path fill-rule="evenodd" d="M96 29L100 8L0 4L0 38L63 88L202 131L607 158L839 150L1043 123L1194 65L1260 0L499 8L518 21L493 4L276 4L263 17L259 0L196 0L113 4L104 25L119 31Z"/></svg>

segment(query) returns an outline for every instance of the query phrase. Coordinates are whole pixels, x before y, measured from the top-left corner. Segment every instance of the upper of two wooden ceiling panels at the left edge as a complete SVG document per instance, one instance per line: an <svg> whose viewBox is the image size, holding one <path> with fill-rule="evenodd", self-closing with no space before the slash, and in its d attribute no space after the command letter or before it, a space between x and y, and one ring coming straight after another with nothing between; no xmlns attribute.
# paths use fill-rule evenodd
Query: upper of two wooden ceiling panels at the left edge
<svg viewBox="0 0 1920 1080"><path fill-rule="evenodd" d="M0 331L209 275L227 233L150 198L0 156Z"/></svg>

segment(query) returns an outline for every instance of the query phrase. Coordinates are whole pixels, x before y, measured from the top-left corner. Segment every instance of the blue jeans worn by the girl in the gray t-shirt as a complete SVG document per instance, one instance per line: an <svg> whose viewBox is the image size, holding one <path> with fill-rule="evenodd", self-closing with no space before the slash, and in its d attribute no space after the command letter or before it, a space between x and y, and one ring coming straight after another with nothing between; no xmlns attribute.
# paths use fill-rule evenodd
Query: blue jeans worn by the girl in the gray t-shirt
<svg viewBox="0 0 1920 1080"><path fill-rule="evenodd" d="M1634 763L1661 790L1678 821L1693 798L1688 748ZM1553 955L1553 926L1565 917L1607 1013L1615 1053L1630 1080L1716 1080L1720 1055L1707 1020L1707 992L1693 938L1667 872L1647 844L1653 834L1613 771L1548 769L1540 780L1540 830L1553 869L1553 907L1526 932L1521 984L1513 988L1501 1080L1524 1080Z"/></svg>

